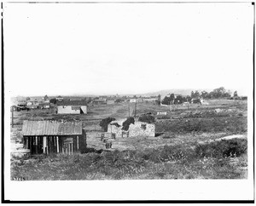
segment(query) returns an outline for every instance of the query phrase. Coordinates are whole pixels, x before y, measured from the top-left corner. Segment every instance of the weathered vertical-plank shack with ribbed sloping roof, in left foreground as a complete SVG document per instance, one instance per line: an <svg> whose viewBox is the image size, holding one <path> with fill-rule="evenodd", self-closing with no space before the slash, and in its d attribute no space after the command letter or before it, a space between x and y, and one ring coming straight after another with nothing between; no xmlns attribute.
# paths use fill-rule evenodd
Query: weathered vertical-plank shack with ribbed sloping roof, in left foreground
<svg viewBox="0 0 256 206"><path fill-rule="evenodd" d="M31 154L79 152L85 142L81 122L24 121L24 147Z"/></svg>

